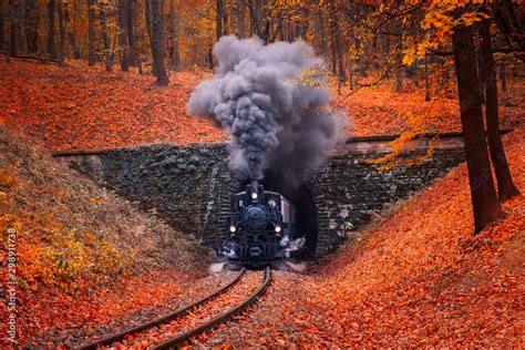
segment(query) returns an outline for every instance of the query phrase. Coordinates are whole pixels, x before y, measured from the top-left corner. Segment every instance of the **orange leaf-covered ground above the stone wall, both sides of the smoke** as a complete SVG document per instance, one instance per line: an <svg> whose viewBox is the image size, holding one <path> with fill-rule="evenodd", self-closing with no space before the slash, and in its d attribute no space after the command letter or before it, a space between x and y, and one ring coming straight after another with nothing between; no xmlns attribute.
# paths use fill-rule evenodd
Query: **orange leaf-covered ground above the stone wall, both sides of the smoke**
<svg viewBox="0 0 525 350"><path fill-rule="evenodd" d="M40 148L100 150L147 143L217 142L227 136L203 119L186 115L192 90L210 72L173 74L159 89L154 78L72 62L62 68L0 60L0 123L27 135ZM516 83L502 94L502 125L523 123L525 86ZM460 131L457 101L424 102L422 87L408 85L397 93L391 84L348 87L334 94L352 127L349 136Z"/></svg>

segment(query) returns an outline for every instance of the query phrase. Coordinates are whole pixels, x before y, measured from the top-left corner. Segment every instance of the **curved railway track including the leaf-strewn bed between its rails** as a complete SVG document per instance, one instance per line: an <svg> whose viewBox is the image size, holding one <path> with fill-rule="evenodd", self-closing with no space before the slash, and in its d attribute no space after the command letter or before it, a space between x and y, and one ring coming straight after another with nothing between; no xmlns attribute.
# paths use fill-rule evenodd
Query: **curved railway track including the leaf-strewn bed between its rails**
<svg viewBox="0 0 525 350"><path fill-rule="evenodd" d="M264 280L258 285L255 290L254 288L246 289L243 286L246 279L246 284L249 287L250 279L253 282L253 279L256 277L254 275L248 275L248 272L246 272L246 269L243 268L229 284L209 294L208 296L195 301L192 305L188 305L182 309L178 309L169 315L166 315L153 321L82 346L80 347L80 349L92 350L102 347L113 346L115 346L115 348L117 349L126 348L132 344L126 343L126 339L130 336L140 339L141 344L144 344L144 342L142 341L146 340L146 342L148 343L148 349L181 348L181 346L191 340L191 338L199 336L215 328L217 325L230 320L234 316L241 313L249 306L254 305L254 302L265 294L266 289L271 282L271 271L268 267L265 269ZM243 290L243 288L245 289ZM235 306L230 306L231 302L227 299L227 295L229 294L234 294L235 296L240 295L244 296L244 298ZM217 305L215 306L214 303ZM226 311L223 311L223 308L225 307ZM215 311L213 312L214 317L203 319L203 317L200 316L202 319L199 319L199 312L204 312L203 310L208 312ZM220 310L220 312L218 312L217 310ZM188 325L189 327L186 327ZM159 342L148 341L148 339L156 340L158 338L162 338ZM151 343L156 344L152 346ZM143 347L146 348L146 346Z"/></svg>

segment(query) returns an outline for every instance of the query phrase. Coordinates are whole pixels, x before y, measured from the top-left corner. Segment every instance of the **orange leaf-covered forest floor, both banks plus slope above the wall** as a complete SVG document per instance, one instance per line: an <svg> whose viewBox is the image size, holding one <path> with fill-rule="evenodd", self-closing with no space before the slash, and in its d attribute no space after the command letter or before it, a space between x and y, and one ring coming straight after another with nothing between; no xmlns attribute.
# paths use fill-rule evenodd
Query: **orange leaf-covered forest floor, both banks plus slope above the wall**
<svg viewBox="0 0 525 350"><path fill-rule="evenodd" d="M0 60L0 228L17 227L25 254L21 342L79 343L135 326L231 278L230 272L199 278L202 265L192 256L205 259L206 253L194 241L47 153L226 141L208 122L185 114L188 94L208 75L178 73L168 87L158 89L151 76L107 74L82 63L60 68ZM523 193L524 93L518 87L502 95L502 124L515 130L504 143ZM454 100L424 103L422 90L395 93L385 85L346 93L334 104L349 114L349 135L409 127L460 131ZM524 195L504 203L505 216L476 236L470 200L462 164L377 218L357 243L320 261L311 274L277 271L259 307L197 343L523 346ZM4 247L2 241L2 261ZM70 258L76 265L60 265L63 276L56 284L50 257L63 247L74 253ZM179 249L176 258L168 253L174 248ZM107 250L102 270L82 268L95 258L90 255L95 249ZM127 256L133 259L121 259ZM6 327L2 320L2 334Z"/></svg>

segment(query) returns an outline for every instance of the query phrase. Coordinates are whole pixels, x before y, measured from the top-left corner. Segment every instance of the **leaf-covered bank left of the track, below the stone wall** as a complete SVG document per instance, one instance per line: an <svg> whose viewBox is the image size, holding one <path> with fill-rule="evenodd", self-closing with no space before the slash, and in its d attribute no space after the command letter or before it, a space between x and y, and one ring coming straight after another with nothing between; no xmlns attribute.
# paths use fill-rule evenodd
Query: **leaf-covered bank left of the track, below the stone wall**
<svg viewBox="0 0 525 350"><path fill-rule="evenodd" d="M165 302L207 250L0 126L0 332L8 228L17 229L17 338L87 327ZM0 338L6 344L7 337Z"/></svg>

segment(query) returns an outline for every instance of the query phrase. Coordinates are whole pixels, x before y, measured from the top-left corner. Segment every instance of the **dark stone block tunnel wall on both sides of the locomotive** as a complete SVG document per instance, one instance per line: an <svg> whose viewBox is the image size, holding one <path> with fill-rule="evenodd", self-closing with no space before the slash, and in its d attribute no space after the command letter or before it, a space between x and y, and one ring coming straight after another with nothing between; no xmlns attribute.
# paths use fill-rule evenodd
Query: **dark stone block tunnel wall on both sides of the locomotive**
<svg viewBox="0 0 525 350"><path fill-rule="evenodd" d="M318 209L316 254L323 256L374 214L428 186L463 162L461 135L441 135L423 164L381 171L369 159L389 151L392 136L349 140L334 150L308 182ZM425 152L429 142L412 142ZM55 157L113 188L143 210L202 239L213 248L225 239L229 195L240 191L228 169L225 143L185 146L157 144L100 152L56 153Z"/></svg>

